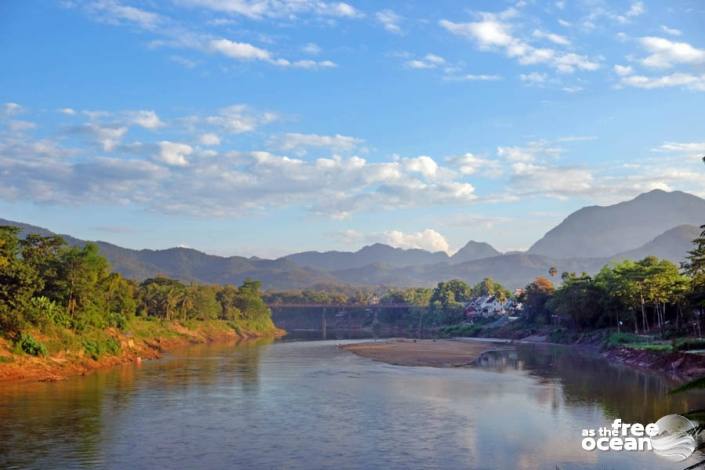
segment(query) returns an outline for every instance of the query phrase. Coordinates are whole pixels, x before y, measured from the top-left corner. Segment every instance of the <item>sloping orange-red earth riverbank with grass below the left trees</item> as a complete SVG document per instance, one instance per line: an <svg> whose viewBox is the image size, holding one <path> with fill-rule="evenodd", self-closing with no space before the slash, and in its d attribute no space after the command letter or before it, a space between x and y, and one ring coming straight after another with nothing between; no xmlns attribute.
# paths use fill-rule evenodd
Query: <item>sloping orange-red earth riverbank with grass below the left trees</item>
<svg viewBox="0 0 705 470"><path fill-rule="evenodd" d="M51 327L28 334L46 354L27 354L17 343L0 338L0 383L53 382L119 364L157 359L164 352L192 344L279 337L285 332L273 326L262 328L223 320L134 319L123 330L94 329L77 334Z"/></svg>

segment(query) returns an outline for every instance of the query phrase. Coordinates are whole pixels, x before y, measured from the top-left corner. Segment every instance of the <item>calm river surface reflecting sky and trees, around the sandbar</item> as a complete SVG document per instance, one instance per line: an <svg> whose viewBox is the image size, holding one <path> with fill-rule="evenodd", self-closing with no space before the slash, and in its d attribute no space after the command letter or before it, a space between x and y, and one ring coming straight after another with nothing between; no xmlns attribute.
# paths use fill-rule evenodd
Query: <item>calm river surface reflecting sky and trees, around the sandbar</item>
<svg viewBox="0 0 705 470"><path fill-rule="evenodd" d="M585 452L583 428L705 407L649 374L520 345L408 368L333 341L178 351L54 384L0 385L0 468L683 468Z"/></svg>

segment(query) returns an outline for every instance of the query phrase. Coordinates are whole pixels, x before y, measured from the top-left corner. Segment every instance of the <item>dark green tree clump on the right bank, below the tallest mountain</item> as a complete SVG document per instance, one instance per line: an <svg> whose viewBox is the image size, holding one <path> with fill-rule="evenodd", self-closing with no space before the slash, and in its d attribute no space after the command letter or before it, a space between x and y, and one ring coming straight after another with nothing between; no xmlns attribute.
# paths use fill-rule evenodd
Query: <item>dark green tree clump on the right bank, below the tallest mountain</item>
<svg viewBox="0 0 705 470"><path fill-rule="evenodd" d="M705 225L701 230L680 267L648 256L605 266L595 276L564 272L557 288L538 277L522 294L527 320L547 323L556 316L578 329L617 327L637 334L701 335Z"/></svg>

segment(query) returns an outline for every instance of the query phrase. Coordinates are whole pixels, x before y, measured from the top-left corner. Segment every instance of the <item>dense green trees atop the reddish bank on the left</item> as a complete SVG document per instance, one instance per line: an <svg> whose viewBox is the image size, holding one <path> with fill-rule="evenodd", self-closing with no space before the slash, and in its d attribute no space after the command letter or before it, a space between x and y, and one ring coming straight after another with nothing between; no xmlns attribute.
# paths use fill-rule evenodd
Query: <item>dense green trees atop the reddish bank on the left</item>
<svg viewBox="0 0 705 470"><path fill-rule="evenodd" d="M165 321L225 320L233 328L273 327L260 285L184 285L165 277L141 284L111 272L98 247L69 247L60 236L28 235L0 226L0 335L23 351L44 355L32 330L68 329L84 336L91 355L118 347L96 342L90 332L124 330L135 318Z"/></svg>

